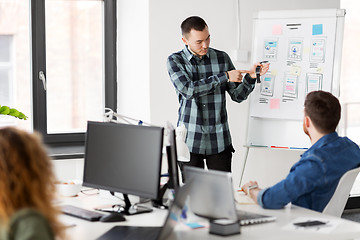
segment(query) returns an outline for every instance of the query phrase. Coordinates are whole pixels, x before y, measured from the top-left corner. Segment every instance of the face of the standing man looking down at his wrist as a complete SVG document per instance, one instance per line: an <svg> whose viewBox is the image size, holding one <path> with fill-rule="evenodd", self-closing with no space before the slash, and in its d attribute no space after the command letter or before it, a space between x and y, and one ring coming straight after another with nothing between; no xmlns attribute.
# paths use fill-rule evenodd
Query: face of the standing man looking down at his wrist
<svg viewBox="0 0 360 240"><path fill-rule="evenodd" d="M210 34L208 27L202 31L191 31L183 36L183 42L193 51L197 56L202 57L206 55L210 45Z"/></svg>

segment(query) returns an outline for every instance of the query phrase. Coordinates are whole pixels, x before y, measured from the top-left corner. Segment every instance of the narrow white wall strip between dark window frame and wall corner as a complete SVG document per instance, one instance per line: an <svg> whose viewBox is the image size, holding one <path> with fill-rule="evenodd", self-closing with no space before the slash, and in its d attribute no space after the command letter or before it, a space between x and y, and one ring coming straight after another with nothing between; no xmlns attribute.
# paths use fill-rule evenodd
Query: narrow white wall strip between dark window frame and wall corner
<svg viewBox="0 0 360 240"><path fill-rule="evenodd" d="M118 112L150 121L149 1L117 1Z"/></svg>

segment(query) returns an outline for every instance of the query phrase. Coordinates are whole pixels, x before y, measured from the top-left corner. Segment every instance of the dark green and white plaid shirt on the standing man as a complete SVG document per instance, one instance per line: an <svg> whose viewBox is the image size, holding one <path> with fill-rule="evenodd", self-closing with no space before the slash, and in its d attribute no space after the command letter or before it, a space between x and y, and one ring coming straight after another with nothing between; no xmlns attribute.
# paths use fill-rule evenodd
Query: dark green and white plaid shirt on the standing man
<svg viewBox="0 0 360 240"><path fill-rule="evenodd" d="M252 92L256 79L246 74L241 83L228 82L225 72L235 67L225 52L213 48L200 59L185 46L168 57L167 69L180 103L177 125L187 129L190 152L224 151L232 144L225 92L240 103Z"/></svg>

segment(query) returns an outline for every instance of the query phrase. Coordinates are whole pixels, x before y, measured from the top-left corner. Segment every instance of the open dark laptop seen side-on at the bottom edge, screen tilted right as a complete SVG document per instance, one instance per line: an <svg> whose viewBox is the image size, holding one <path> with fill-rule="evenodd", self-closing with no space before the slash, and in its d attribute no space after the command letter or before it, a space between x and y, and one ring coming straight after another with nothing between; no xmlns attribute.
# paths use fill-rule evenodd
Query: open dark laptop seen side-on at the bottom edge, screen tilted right
<svg viewBox="0 0 360 240"><path fill-rule="evenodd" d="M189 196L192 182L179 187L175 199L169 209L165 223L161 227L140 227L140 226L115 226L97 240L115 240L115 239L143 239L143 240L163 240L173 232L176 224L181 219L182 209Z"/></svg>

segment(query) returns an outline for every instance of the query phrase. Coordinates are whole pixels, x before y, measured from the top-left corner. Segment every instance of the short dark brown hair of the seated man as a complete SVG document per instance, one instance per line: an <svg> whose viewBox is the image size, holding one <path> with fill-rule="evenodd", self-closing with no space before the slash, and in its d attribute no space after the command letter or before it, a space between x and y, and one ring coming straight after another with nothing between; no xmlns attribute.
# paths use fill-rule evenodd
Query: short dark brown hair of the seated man
<svg viewBox="0 0 360 240"><path fill-rule="evenodd" d="M339 100L329 92L313 91L305 99L305 115L321 133L334 132L341 117Z"/></svg>

